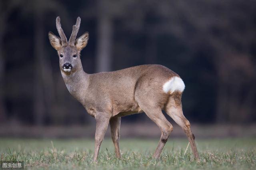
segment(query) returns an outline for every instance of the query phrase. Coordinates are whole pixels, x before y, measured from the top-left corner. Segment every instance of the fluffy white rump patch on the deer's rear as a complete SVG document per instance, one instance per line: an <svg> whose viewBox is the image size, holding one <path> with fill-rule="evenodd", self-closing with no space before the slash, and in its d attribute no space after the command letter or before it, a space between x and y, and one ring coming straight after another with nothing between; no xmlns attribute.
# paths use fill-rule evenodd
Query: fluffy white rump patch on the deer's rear
<svg viewBox="0 0 256 170"><path fill-rule="evenodd" d="M185 89L185 84L180 77L172 77L169 81L164 83L163 90L165 93L173 93L174 91L183 92Z"/></svg>

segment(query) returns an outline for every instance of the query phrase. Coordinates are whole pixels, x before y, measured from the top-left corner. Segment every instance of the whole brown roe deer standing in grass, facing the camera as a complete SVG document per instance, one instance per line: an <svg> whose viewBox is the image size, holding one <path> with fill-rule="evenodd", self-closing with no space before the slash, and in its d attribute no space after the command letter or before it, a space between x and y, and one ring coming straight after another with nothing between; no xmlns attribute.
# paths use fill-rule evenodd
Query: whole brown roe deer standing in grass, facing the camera
<svg viewBox="0 0 256 170"><path fill-rule="evenodd" d="M159 158L172 132L172 125L162 110L184 130L194 158L198 152L189 121L182 112L181 96L185 85L180 76L162 65L139 65L118 71L87 74L82 68L80 51L86 47L89 33L76 39L80 17L73 26L69 41L61 28L60 17L56 27L60 38L48 33L50 43L59 55L60 71L70 94L96 119L94 161L97 161L100 144L110 123L116 156L120 158L119 129L121 117L145 112L158 125L161 138L153 154Z"/></svg>

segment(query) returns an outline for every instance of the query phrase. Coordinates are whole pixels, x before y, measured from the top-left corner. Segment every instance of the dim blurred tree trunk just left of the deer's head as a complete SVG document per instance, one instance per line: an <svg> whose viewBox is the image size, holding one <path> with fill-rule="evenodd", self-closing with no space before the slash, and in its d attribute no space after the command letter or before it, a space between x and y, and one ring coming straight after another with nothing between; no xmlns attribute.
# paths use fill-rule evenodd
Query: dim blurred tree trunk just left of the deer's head
<svg viewBox="0 0 256 170"><path fill-rule="evenodd" d="M35 61L35 122L36 125L42 125L46 113L53 113L54 87L52 78L52 68L48 56L45 55L44 40L47 36L44 31L43 16L44 12L40 7L37 8L35 15L35 32L34 32L34 57Z"/></svg>

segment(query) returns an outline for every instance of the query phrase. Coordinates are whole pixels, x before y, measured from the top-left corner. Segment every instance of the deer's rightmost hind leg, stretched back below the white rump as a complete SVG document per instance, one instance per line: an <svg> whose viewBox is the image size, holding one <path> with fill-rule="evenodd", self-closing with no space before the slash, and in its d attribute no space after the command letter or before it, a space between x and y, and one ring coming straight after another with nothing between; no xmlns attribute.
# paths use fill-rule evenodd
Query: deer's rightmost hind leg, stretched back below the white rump
<svg viewBox="0 0 256 170"><path fill-rule="evenodd" d="M165 106L166 113L184 130L188 140L190 142L190 146L192 148L194 157L199 159L198 151L196 149L196 144L194 141L194 134L192 134L190 123L183 115L182 104L181 104L181 95L180 92L174 92L170 95L170 99Z"/></svg>

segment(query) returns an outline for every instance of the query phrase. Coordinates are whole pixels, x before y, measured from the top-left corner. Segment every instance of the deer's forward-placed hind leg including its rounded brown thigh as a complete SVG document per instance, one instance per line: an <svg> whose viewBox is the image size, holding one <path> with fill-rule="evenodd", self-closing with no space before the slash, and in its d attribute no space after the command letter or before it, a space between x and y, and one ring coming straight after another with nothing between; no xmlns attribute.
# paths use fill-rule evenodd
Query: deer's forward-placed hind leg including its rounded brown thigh
<svg viewBox="0 0 256 170"><path fill-rule="evenodd" d="M153 76L151 80L148 81L148 76L141 77L137 82L134 98L140 109L142 109L161 130L158 146L152 156L158 159L173 127L162 113L162 108L169 95L159 90L159 80L156 77Z"/></svg>

